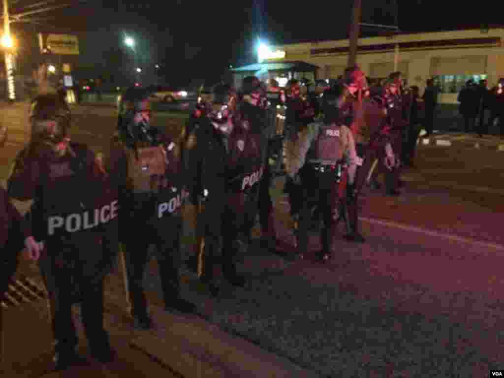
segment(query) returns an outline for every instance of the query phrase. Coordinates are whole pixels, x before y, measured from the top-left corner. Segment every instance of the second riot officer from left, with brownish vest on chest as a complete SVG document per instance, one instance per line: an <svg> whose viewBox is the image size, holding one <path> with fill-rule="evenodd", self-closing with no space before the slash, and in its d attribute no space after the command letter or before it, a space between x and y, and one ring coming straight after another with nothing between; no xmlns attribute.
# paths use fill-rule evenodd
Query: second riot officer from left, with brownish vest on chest
<svg viewBox="0 0 504 378"><path fill-rule="evenodd" d="M155 244L166 310L194 312L180 296L180 208L186 198L178 141L151 124L149 92L130 88L121 98L118 131L112 139L110 176L119 191L119 239L127 266L135 326L153 326L142 280L148 249Z"/></svg>

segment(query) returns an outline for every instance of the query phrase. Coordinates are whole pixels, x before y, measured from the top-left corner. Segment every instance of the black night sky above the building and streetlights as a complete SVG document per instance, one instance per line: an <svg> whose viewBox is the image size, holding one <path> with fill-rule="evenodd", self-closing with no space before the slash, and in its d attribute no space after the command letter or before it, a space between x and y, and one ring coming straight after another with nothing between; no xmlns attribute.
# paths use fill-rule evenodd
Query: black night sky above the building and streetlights
<svg viewBox="0 0 504 378"><path fill-rule="evenodd" d="M18 0L22 9L36 0ZM348 35L352 1L310 0L301 2L244 0L204 2L97 1L38 17L52 20L40 24L15 24L13 31L29 34L51 31L80 37L81 65L106 66L122 61L118 71L130 70L133 54L123 45L125 34L137 41L138 65L162 64L168 74L177 73L181 82L209 84L219 80L229 65L255 62L257 38L272 44L344 39ZM393 24L392 0L362 0L362 22ZM64 3L63 0L60 3ZM500 21L498 2L481 0L478 6L462 6L460 1L398 0L399 28L403 32L450 30L496 25ZM35 16L34 16L35 17ZM364 28L364 36L377 30ZM27 44L28 45L28 44ZM122 58L117 58L121 55ZM115 57L114 57L115 56ZM122 60L121 60L122 59ZM168 80L173 80L169 75ZM181 83L180 83L181 84Z"/></svg>

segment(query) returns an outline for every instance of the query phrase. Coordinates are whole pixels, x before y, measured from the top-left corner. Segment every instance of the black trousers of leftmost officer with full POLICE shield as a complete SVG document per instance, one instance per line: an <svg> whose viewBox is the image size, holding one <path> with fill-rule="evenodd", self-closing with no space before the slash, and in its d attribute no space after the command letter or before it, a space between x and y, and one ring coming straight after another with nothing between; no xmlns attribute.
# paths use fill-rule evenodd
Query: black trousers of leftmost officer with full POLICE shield
<svg viewBox="0 0 504 378"><path fill-rule="evenodd" d="M78 344L72 320L75 285L79 288L81 316L92 354L107 352L108 333L103 328L103 279L112 256L100 254L99 244L46 242L45 256L40 261L44 283L49 292L55 351L70 353ZM101 267L101 269L97 269Z"/></svg>

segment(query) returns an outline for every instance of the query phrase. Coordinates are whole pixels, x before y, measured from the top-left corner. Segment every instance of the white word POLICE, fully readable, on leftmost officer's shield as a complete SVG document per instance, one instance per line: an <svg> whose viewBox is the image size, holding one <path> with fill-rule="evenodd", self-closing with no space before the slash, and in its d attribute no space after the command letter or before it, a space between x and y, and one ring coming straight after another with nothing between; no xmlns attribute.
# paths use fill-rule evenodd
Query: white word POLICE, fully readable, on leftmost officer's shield
<svg viewBox="0 0 504 378"><path fill-rule="evenodd" d="M117 203L118 201L115 200L110 205L105 205L99 209L86 210L83 213L74 213L65 217L50 216L47 222L48 235L54 235L57 228L65 228L65 231L74 233L108 223L117 217Z"/></svg>

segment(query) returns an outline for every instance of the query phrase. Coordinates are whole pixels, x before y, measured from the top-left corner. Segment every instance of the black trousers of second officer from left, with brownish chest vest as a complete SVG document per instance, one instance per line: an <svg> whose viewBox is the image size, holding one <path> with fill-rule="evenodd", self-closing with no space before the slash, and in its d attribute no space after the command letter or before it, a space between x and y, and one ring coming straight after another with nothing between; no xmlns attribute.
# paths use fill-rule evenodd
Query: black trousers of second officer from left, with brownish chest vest
<svg viewBox="0 0 504 378"><path fill-rule="evenodd" d="M158 220L155 218L131 219L131 227L121 235L124 260L128 271L128 284L132 316L143 317L147 312L143 278L149 262L149 246L154 244L161 278L161 289L166 304L180 296L181 265L180 233L182 218L177 215Z"/></svg>

